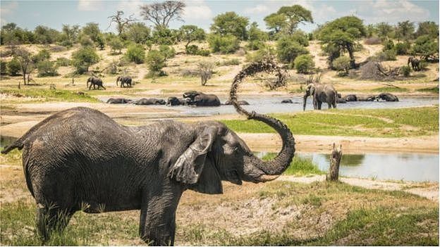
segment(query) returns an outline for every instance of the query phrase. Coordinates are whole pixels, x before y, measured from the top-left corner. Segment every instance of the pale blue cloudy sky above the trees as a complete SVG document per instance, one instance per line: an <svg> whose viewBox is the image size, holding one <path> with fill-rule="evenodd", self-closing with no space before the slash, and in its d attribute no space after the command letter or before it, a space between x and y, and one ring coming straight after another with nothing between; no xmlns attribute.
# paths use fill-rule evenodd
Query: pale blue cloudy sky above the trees
<svg viewBox="0 0 440 247"><path fill-rule="evenodd" d="M126 15L140 17L139 6L152 1L0 1L1 25L16 23L19 27L33 30L37 25L61 30L62 24L84 25L99 23L104 32L114 32L109 27L109 15L122 10ZM185 1L187 5L183 20L171 23L171 28L181 25L197 25L209 30L212 18L219 13L235 11L249 18L250 23L257 22L266 29L264 17L276 12L281 6L300 4L312 11L314 24L300 25L300 29L310 32L317 24L345 15L355 15L365 24L387 22L391 24L403 20L418 23L431 20L439 23L439 1ZM147 23L149 25L149 23Z"/></svg>

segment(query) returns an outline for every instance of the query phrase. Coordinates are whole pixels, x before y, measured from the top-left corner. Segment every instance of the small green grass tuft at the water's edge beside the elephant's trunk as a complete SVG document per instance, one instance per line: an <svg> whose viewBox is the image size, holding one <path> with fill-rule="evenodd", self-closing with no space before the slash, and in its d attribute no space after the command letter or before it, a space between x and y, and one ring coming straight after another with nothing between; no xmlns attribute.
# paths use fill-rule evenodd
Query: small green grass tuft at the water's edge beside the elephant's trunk
<svg viewBox="0 0 440 247"><path fill-rule="evenodd" d="M268 153L263 156L263 160L271 160L276 157L276 153ZM313 163L311 158L303 158L300 156L293 157L291 165L287 168L283 175L295 175L295 176L305 176L305 175L322 175L325 172L319 170L318 165Z"/></svg>

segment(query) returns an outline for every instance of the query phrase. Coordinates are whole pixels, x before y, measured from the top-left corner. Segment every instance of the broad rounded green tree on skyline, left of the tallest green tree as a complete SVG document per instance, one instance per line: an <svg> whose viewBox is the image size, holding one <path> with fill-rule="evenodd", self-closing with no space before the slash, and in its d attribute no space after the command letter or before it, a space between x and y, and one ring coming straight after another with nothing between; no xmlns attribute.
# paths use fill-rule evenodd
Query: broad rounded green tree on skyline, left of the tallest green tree
<svg viewBox="0 0 440 247"><path fill-rule="evenodd" d="M240 40L247 39L246 27L249 24L249 19L237 15L235 12L226 12L214 17L210 29L212 34L219 35L233 35Z"/></svg>

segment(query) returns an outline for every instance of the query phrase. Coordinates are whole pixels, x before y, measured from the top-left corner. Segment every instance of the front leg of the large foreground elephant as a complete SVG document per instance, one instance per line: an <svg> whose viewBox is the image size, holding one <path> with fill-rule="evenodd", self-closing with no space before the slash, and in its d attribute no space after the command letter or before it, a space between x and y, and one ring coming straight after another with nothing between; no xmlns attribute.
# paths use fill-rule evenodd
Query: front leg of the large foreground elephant
<svg viewBox="0 0 440 247"><path fill-rule="evenodd" d="M181 192L148 196L140 211L140 238L152 246L172 246Z"/></svg>

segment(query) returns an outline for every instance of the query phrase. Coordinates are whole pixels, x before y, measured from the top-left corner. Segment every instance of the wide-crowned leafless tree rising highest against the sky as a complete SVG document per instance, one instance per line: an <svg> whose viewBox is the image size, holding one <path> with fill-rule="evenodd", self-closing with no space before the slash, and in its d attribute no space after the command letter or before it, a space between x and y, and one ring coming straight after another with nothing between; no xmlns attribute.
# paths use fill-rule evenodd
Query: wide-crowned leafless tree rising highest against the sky
<svg viewBox="0 0 440 247"><path fill-rule="evenodd" d="M163 3L145 4L140 6L140 15L153 23L155 27L168 27L171 20L181 20L185 3L182 1L164 1Z"/></svg>

